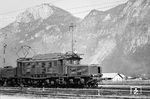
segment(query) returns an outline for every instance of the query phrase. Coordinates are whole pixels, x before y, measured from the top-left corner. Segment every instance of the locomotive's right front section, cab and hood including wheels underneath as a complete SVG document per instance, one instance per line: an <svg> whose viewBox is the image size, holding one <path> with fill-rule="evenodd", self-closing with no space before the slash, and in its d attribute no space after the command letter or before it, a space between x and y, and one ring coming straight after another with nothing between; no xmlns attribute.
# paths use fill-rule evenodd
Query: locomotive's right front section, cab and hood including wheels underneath
<svg viewBox="0 0 150 99"><path fill-rule="evenodd" d="M101 77L100 66L98 64L80 64L81 59L76 53L66 53L65 55L64 73L69 79L69 84L96 87Z"/></svg>

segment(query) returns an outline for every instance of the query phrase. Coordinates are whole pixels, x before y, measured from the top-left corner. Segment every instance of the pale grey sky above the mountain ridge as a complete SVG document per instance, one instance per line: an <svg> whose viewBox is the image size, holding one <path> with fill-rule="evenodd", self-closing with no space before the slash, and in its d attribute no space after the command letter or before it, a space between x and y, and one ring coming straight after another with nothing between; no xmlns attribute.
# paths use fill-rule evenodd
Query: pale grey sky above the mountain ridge
<svg viewBox="0 0 150 99"><path fill-rule="evenodd" d="M71 12L73 15L83 18L90 10L106 10L127 0L0 0L0 27L7 21L13 20L16 15L26 8L52 3L53 5Z"/></svg>

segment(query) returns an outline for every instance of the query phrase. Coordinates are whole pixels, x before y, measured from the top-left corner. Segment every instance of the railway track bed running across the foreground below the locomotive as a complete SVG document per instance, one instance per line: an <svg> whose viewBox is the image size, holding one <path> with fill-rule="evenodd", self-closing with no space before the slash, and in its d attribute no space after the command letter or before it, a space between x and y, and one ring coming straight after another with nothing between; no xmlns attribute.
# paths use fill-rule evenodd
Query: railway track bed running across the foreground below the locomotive
<svg viewBox="0 0 150 99"><path fill-rule="evenodd" d="M98 88L95 89L0 87L0 93L6 95L50 95L53 97L109 97L150 99L150 86L100 85Z"/></svg>

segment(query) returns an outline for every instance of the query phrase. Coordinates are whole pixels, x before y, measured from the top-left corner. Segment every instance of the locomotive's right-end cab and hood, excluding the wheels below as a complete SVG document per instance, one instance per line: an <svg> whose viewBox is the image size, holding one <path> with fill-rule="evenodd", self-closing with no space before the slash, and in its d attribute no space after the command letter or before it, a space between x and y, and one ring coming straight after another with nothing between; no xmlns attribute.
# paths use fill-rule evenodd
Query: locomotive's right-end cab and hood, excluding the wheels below
<svg viewBox="0 0 150 99"><path fill-rule="evenodd" d="M66 53L65 74L69 76L101 76L101 68L98 64L80 64L82 59L76 53Z"/></svg>

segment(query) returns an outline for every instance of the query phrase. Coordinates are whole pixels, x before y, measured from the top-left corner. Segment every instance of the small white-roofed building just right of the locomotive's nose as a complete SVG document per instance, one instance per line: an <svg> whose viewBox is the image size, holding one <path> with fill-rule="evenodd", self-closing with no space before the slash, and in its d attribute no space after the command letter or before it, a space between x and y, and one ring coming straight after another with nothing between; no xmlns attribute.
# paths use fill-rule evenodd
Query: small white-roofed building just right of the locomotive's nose
<svg viewBox="0 0 150 99"><path fill-rule="evenodd" d="M126 76L120 73L102 73L102 79L111 81L123 81Z"/></svg>

